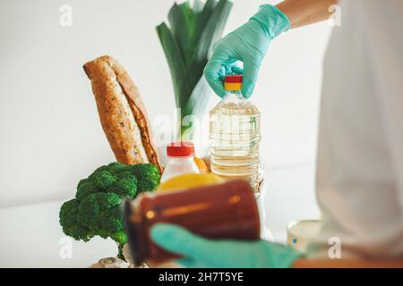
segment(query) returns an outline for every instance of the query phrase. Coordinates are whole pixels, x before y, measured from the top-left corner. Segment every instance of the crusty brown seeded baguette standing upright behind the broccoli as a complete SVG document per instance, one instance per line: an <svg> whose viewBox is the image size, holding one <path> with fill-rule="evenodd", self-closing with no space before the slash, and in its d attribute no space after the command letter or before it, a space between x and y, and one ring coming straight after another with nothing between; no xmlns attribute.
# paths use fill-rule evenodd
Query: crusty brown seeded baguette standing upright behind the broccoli
<svg viewBox="0 0 403 286"><path fill-rule="evenodd" d="M155 164L162 172L140 92L123 66L105 55L85 63L84 71L91 80L100 122L116 160Z"/></svg>

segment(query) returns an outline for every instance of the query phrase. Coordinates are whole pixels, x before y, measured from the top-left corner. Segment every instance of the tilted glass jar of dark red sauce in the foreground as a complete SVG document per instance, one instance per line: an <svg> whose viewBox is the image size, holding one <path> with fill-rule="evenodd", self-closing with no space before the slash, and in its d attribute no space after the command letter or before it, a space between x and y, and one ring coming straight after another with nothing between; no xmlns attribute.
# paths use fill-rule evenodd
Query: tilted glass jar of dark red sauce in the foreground
<svg viewBox="0 0 403 286"><path fill-rule="evenodd" d="M127 201L124 225L137 265L178 258L150 239L150 228L155 223L175 223L209 239L260 238L258 207L250 184L244 180L168 193L143 193Z"/></svg>

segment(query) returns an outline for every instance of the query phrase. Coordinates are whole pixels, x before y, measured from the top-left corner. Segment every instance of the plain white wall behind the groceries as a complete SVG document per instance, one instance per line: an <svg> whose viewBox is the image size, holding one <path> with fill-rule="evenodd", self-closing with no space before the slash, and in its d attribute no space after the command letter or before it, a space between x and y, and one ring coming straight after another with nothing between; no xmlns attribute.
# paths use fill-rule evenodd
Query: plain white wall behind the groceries
<svg viewBox="0 0 403 286"><path fill-rule="evenodd" d="M233 0L226 33L258 4ZM155 26L167 0L2 0L0 206L73 196L76 182L114 159L82 64L113 55L141 89L151 119L170 115L173 90ZM73 27L59 25L62 4ZM270 46L253 102L262 112L266 165L313 162L322 55L330 26L282 35ZM212 98L210 105L215 105Z"/></svg>

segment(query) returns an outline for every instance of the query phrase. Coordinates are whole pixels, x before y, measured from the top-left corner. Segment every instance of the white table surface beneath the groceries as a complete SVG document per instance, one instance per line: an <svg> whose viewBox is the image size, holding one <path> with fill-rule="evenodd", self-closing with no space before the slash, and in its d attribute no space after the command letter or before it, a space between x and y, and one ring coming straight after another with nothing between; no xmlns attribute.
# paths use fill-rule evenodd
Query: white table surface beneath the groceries
<svg viewBox="0 0 403 286"><path fill-rule="evenodd" d="M318 218L313 164L266 170L266 225L275 241L285 242L287 223ZM66 237L58 222L63 202L0 209L0 267L86 267L116 256L113 240L73 241L72 257L62 258Z"/></svg>

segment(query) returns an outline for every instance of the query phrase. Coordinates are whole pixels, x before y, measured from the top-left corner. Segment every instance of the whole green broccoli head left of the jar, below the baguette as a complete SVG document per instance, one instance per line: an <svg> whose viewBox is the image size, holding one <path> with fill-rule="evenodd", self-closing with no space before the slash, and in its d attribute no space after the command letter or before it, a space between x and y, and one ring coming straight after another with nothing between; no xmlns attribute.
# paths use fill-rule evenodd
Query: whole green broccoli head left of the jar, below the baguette
<svg viewBox="0 0 403 286"><path fill-rule="evenodd" d="M121 203L159 185L159 169L153 164L111 163L99 167L78 183L75 198L60 208L60 225L74 240L89 241L94 236L118 243L118 257L124 259L127 242Z"/></svg>

